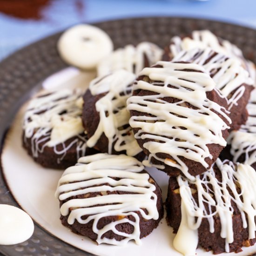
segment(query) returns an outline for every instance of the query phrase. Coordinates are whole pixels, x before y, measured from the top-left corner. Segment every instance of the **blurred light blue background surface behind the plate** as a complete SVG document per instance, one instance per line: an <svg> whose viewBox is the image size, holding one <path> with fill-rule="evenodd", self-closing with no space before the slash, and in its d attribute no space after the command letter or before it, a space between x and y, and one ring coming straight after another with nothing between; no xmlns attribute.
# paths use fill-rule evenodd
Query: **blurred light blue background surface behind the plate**
<svg viewBox="0 0 256 256"><path fill-rule="evenodd" d="M77 23L145 16L221 20L256 29L256 0L53 0L43 20L22 20L0 13L0 59L49 34Z"/></svg>

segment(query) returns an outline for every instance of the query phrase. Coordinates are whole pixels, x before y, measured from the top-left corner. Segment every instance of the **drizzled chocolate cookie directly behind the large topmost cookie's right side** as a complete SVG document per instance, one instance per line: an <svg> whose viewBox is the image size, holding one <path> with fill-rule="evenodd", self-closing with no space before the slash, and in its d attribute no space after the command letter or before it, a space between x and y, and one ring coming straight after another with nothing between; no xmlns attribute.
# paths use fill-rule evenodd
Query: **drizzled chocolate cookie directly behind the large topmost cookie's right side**
<svg viewBox="0 0 256 256"><path fill-rule="evenodd" d="M228 99L231 130L237 130L241 124L245 124L247 120L245 107L254 88L254 81L241 66L241 61L218 54L209 47L182 51L173 61L189 61L204 67L216 82L216 87Z"/></svg>

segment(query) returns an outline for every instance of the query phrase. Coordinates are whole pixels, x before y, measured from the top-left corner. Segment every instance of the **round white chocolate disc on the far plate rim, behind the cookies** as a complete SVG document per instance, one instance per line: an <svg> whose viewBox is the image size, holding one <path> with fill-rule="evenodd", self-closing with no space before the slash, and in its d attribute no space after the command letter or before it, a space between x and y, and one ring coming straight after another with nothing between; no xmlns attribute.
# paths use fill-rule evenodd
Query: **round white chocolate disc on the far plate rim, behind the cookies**
<svg viewBox="0 0 256 256"><path fill-rule="evenodd" d="M58 50L68 64L81 69L92 69L113 51L113 42L100 28L81 24L71 27L61 35Z"/></svg>

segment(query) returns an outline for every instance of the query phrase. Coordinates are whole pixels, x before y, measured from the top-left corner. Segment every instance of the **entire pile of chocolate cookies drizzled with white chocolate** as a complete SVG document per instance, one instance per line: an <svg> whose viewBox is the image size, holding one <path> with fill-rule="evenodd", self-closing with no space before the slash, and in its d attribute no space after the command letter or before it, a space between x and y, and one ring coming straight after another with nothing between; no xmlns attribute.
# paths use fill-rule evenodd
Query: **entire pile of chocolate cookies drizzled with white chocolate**
<svg viewBox="0 0 256 256"><path fill-rule="evenodd" d="M118 49L97 72L86 92L34 99L24 119L29 155L66 168L56 192L62 224L99 244L141 243L163 217L161 189L144 169L155 167L168 174L176 250L253 245L254 64L229 41L194 31L164 51L149 42Z"/></svg>

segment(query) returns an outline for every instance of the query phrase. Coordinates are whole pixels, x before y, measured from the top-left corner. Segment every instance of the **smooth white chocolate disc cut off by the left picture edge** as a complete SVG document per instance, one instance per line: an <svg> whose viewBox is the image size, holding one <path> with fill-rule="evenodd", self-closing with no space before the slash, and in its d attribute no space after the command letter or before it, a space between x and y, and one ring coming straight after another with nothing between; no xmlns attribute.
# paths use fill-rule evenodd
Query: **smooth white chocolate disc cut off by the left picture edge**
<svg viewBox="0 0 256 256"><path fill-rule="evenodd" d="M0 204L0 245L26 241L34 232L31 217L20 208Z"/></svg>

